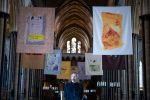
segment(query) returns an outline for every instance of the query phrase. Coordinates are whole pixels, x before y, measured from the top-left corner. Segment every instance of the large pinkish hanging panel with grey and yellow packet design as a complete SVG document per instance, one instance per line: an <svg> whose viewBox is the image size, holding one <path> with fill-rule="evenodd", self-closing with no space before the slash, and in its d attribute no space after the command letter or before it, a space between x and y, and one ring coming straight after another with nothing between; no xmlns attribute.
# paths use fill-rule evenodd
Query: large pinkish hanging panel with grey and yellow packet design
<svg viewBox="0 0 150 100"><path fill-rule="evenodd" d="M17 53L53 53L54 20L54 8L22 7Z"/></svg>

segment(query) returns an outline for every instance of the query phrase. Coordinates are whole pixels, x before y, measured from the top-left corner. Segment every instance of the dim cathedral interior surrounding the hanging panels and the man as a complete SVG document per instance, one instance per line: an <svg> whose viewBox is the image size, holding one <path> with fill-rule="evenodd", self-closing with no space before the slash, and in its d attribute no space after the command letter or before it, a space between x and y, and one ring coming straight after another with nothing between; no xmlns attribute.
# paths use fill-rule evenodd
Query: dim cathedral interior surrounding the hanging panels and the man
<svg viewBox="0 0 150 100"><path fill-rule="evenodd" d="M53 48L76 69L85 53L93 52L93 6L131 6L133 54L121 56L123 67L114 62L103 75L81 80L87 100L150 100L149 0L0 0L0 100L64 100L67 79L21 64L23 54L16 52L20 8L55 8Z"/></svg>

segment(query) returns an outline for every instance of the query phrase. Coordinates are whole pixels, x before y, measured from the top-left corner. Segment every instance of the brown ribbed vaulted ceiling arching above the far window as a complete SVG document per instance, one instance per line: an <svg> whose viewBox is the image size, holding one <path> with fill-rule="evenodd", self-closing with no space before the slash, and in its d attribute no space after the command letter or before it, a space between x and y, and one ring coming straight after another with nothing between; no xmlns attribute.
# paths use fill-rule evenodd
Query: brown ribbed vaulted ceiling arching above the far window
<svg viewBox="0 0 150 100"><path fill-rule="evenodd" d="M92 6L105 6L107 0L32 0L36 7L55 7L55 47L66 52L66 42L81 41L81 52L92 48Z"/></svg>

